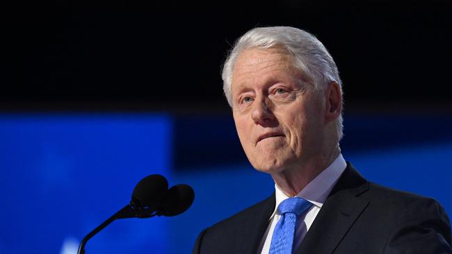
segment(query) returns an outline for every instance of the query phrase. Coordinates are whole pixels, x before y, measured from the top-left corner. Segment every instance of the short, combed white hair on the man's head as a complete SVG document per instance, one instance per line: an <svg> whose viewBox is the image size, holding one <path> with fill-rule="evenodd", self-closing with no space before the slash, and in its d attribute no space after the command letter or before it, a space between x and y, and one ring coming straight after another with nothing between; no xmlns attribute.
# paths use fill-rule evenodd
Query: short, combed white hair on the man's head
<svg viewBox="0 0 452 254"><path fill-rule="evenodd" d="M323 91L333 81L338 83L342 90L342 81L336 63L314 35L290 26L258 27L236 40L223 65L223 90L231 107L233 107L232 71L239 54L245 49L269 49L276 46L282 47L294 57L294 67L312 78L317 90ZM338 141L344 135L342 128L342 115L340 115L336 121Z"/></svg>

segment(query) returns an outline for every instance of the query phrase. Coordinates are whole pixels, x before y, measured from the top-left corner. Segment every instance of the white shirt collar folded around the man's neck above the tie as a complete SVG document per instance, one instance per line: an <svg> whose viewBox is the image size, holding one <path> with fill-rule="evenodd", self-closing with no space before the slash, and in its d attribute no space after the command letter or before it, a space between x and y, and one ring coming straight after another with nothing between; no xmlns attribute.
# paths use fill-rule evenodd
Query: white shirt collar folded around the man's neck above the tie
<svg viewBox="0 0 452 254"><path fill-rule="evenodd" d="M305 198L318 208L321 208L325 203L326 198L330 194L332 188L339 180L339 177L347 167L347 163L344 160L342 154L339 154L337 158L328 166L325 170L316 176L311 182L309 182L296 196ZM284 199L289 198L275 183L275 199L276 205L273 214L270 219L277 213L277 207Z"/></svg>

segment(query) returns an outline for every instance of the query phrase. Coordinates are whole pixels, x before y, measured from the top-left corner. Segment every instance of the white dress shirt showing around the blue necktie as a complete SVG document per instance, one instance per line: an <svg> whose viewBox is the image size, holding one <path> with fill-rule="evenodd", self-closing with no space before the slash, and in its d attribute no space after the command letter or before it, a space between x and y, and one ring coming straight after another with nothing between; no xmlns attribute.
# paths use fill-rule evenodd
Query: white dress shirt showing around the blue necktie
<svg viewBox="0 0 452 254"><path fill-rule="evenodd" d="M296 233L293 239L293 253L298 253L298 248L300 248L302 240L305 238L307 230L311 227L314 219L321 210L323 203L325 203L326 198L330 194L334 185L336 185L337 180L346 169L347 164L341 154L328 166L325 170L314 178L310 183L306 185L296 196L300 198L305 198L307 201L311 202L313 205L307 212L303 213L298 217L298 225L296 226ZM259 251L257 253L268 254L270 251L271 238L273 236L273 230L277 221L280 220L281 215L278 212L277 207L280 205L284 199L289 198L280 188L275 184L276 193L276 205L275 211L271 215L268 223L264 237L262 237L261 244L259 245Z"/></svg>

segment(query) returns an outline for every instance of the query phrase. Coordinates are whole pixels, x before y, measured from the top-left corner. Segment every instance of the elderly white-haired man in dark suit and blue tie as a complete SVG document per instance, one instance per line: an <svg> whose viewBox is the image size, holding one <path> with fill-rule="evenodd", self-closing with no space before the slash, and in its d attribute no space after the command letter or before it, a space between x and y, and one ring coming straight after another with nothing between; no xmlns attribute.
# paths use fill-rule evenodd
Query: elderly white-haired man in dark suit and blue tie
<svg viewBox="0 0 452 254"><path fill-rule="evenodd" d="M432 198L369 183L341 155L341 80L313 35L255 28L223 68L237 133L275 193L200 233L193 253L452 253Z"/></svg>

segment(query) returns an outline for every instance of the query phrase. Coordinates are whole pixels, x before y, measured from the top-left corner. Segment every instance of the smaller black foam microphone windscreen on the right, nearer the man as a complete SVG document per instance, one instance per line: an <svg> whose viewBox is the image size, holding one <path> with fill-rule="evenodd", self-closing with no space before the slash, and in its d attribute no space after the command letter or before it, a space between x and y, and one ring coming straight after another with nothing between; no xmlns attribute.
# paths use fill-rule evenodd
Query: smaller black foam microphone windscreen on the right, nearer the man
<svg viewBox="0 0 452 254"><path fill-rule="evenodd" d="M175 185L168 189L166 200L163 202L162 215L175 216L190 208L195 199L195 192L188 185Z"/></svg>

